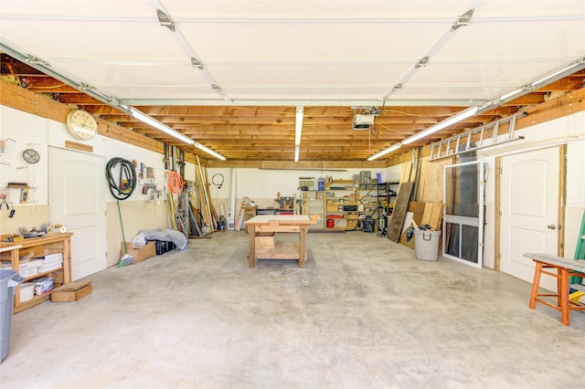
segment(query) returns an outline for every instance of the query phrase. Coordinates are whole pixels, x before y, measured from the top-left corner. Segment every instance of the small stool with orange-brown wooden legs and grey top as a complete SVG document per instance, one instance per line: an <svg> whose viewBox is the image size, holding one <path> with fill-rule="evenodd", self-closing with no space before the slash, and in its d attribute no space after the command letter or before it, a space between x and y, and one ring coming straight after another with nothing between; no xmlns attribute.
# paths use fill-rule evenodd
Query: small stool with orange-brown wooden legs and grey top
<svg viewBox="0 0 585 389"><path fill-rule="evenodd" d="M569 300L569 277L585 278L585 274L583 274L585 273L585 260L562 258L542 253L526 253L524 257L532 258L537 264L534 269L534 280L532 281L532 292L530 293L528 307L534 310L537 307L537 302L539 302L555 310L560 310L560 322L569 325L571 310L585 310L585 305ZM556 268L557 272L547 271L545 270L546 268ZM557 293L538 293L541 274L548 274L548 276L557 278ZM541 296L556 297L557 305L538 299Z"/></svg>

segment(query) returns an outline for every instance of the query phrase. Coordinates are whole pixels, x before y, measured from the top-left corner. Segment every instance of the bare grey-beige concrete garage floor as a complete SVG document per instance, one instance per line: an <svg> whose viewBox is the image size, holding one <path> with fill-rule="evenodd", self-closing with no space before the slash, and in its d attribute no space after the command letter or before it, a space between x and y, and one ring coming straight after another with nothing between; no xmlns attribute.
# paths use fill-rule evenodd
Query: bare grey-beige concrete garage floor
<svg viewBox="0 0 585 389"><path fill-rule="evenodd" d="M283 237L283 235L282 235ZM292 237L289 235L289 237ZM14 316L8 388L570 388L585 313L374 234L309 234L306 268L216 233Z"/></svg>

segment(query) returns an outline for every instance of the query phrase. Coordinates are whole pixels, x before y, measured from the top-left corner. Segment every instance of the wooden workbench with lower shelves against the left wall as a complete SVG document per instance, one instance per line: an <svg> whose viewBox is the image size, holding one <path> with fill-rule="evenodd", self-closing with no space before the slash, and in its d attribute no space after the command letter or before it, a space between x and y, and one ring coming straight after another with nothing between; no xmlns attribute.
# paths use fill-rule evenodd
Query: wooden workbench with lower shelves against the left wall
<svg viewBox="0 0 585 389"><path fill-rule="evenodd" d="M50 277L53 279L53 288L71 282L71 236L72 233L64 234L47 234L43 237L31 237L17 242L0 242L0 259L3 262L10 262L10 268L15 271L20 270L21 257L41 257L50 253L62 253L63 265L59 268L52 268L37 274L27 276L26 281ZM14 248L17 247L17 248ZM14 249L13 249L14 248ZM5 251L6 250L6 251ZM50 299L51 292L40 296L35 296L31 300L20 302L20 287L15 288L15 305L14 312L18 313L23 310L32 308L42 302Z"/></svg>

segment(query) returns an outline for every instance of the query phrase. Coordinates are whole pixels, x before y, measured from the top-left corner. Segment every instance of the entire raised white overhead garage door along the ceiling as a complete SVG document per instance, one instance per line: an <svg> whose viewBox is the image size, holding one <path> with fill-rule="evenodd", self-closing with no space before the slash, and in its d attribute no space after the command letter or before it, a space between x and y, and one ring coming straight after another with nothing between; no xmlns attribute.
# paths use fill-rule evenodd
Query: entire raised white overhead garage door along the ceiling
<svg viewBox="0 0 585 389"><path fill-rule="evenodd" d="M5 0L0 17L3 44L122 100L485 100L585 55L583 0Z"/></svg>

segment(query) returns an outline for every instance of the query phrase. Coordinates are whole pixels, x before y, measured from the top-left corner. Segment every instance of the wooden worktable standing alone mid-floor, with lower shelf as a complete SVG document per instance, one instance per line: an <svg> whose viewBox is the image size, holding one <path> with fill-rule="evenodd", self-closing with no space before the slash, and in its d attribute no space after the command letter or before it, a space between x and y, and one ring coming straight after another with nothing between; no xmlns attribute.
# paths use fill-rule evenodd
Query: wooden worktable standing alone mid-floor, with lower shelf
<svg viewBox="0 0 585 389"><path fill-rule="evenodd" d="M299 268L304 268L304 261L307 258L304 238L312 224L314 221L305 215L259 215L244 222L250 234L248 267L253 268L256 259L298 259ZM259 232L298 233L298 247L277 240L274 248L257 248L256 234Z"/></svg>

